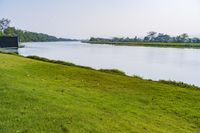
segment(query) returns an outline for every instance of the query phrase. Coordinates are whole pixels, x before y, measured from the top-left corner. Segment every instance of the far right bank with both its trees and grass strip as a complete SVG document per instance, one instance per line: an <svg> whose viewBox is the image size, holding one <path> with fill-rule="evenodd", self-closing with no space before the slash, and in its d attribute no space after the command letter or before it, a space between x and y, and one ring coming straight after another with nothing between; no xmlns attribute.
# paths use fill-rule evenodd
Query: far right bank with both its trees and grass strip
<svg viewBox="0 0 200 133"><path fill-rule="evenodd" d="M85 43L112 44L119 46L153 46L153 47L176 47L176 48L200 48L200 38L190 38L184 33L175 37L164 33L149 32L144 38L94 38L91 37Z"/></svg>

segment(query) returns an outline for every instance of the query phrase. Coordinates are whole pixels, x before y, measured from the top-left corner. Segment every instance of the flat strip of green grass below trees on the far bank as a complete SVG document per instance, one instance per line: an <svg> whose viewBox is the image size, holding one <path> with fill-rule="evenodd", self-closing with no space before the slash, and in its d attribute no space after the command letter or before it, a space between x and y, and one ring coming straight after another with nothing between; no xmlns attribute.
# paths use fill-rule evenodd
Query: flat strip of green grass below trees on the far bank
<svg viewBox="0 0 200 133"><path fill-rule="evenodd" d="M111 41L83 41L90 44L111 44L118 46L147 46L172 48L200 48L200 43L165 43L165 42L111 42Z"/></svg>

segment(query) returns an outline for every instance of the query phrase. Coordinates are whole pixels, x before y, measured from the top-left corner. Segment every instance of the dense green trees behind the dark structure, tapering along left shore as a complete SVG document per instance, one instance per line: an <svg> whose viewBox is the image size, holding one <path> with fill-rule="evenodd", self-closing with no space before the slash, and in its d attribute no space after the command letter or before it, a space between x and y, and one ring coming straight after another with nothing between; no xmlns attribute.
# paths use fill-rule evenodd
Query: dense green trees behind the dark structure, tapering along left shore
<svg viewBox="0 0 200 133"><path fill-rule="evenodd" d="M47 42L47 41L76 41L73 39L57 38L43 33L29 32L10 27L10 20L0 20L0 36L18 36L20 42Z"/></svg>

